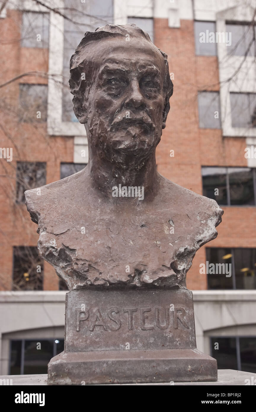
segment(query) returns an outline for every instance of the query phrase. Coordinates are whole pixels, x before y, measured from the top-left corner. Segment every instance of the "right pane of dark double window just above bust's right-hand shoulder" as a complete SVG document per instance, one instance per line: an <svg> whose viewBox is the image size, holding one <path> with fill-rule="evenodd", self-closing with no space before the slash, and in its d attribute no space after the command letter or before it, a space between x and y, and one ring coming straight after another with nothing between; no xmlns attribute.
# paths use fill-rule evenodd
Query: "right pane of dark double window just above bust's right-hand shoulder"
<svg viewBox="0 0 256 412"><path fill-rule="evenodd" d="M230 205L254 206L253 169L228 168Z"/></svg>

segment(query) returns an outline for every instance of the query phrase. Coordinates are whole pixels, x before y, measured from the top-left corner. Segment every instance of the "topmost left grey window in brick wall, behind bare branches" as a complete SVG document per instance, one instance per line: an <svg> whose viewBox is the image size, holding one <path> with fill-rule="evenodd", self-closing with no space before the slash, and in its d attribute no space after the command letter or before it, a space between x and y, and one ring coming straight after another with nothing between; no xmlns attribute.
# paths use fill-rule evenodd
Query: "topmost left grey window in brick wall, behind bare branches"
<svg viewBox="0 0 256 412"><path fill-rule="evenodd" d="M48 48L49 13L23 12L21 47Z"/></svg>

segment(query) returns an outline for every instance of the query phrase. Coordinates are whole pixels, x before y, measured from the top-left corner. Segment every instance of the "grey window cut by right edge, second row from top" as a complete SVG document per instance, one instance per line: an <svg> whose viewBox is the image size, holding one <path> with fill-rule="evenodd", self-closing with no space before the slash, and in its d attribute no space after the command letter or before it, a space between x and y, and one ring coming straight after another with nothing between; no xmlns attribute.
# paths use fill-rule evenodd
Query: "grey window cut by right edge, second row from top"
<svg viewBox="0 0 256 412"><path fill-rule="evenodd" d="M233 127L256 127L256 93L230 93Z"/></svg>

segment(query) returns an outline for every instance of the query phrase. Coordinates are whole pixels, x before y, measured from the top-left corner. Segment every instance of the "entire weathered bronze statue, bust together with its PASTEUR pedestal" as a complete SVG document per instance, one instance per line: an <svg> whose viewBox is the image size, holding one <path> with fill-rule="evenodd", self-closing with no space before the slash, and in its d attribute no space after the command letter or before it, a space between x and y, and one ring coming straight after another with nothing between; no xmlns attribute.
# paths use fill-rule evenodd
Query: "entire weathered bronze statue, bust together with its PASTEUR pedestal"
<svg viewBox="0 0 256 412"><path fill-rule="evenodd" d="M88 165L40 191L26 191L28 211L38 224L40 254L70 289L65 351L49 364L49 383L79 383L88 353L96 351L102 353L95 360L97 376L88 372L88 379L81 379L87 383L141 382L143 376L150 382L155 378L150 372L152 353L161 358L162 352L167 375L158 377L160 381L178 375L180 380L214 380L216 361L199 355L195 346L186 272L200 246L217 236L223 211L214 200L156 171L156 146L173 91L167 56L137 26L107 25L81 40L70 61L70 88L75 115L86 128ZM183 307L182 318L177 318L178 309L166 309L172 303ZM127 330L129 308L137 309L138 326L132 330ZM164 314L168 328L159 328ZM144 329L146 324L153 329ZM127 342L131 347L126 351ZM181 350L187 350L186 361L177 364ZM100 368L113 351L119 357L124 353L126 361L122 363L121 356L120 373L109 378L112 367L105 372ZM84 356L80 366L79 353ZM187 368L195 353L192 379ZM131 363L139 356L137 365L144 365L133 378L129 356ZM66 368L62 380L61 365ZM205 367L201 375L200 365Z"/></svg>

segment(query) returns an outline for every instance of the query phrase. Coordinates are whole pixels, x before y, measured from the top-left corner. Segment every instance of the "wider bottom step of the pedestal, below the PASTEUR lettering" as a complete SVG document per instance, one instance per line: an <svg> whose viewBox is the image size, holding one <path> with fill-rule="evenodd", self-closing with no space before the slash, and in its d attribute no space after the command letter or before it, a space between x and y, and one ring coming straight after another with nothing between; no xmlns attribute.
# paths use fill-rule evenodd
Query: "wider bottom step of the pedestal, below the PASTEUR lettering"
<svg viewBox="0 0 256 412"><path fill-rule="evenodd" d="M216 359L197 349L62 352L48 365L48 385L216 380Z"/></svg>

